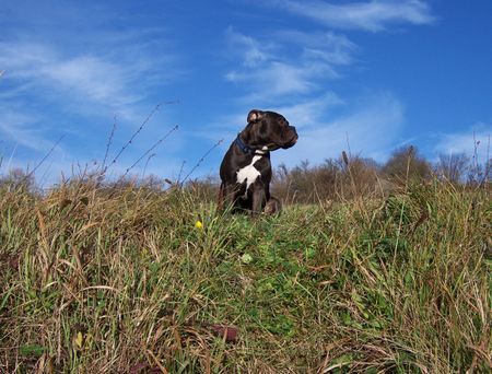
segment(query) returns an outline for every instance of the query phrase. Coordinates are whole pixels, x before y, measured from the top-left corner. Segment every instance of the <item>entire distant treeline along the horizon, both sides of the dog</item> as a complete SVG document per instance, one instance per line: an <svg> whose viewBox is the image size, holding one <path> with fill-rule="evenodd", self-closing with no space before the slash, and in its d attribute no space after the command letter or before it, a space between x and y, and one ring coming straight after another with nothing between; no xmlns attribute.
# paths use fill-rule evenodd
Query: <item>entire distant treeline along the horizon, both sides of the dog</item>
<svg viewBox="0 0 492 374"><path fill-rule="evenodd" d="M410 184L431 180L489 188L491 165L492 159L480 162L477 152L471 157L465 153L441 154L436 162L431 162L413 145L396 150L385 163L343 151L338 159L327 159L318 165L311 165L306 160L293 168L285 165L276 167L271 194L284 203L316 203L361 196L380 197ZM218 175L186 183L154 175L145 178L125 176L109 182L97 172L84 171L72 179L96 183L104 188L124 188L129 185L155 190L190 188L203 201L215 201L220 185ZM0 176L2 187L36 191L34 176L21 170L12 170Z"/></svg>

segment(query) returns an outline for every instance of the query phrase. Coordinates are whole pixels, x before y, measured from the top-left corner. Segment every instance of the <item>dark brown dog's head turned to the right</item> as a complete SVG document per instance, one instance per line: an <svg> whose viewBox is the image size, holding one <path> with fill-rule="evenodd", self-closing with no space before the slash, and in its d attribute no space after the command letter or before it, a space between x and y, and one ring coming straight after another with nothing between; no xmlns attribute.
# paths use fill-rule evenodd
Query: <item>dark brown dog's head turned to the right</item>
<svg viewBox="0 0 492 374"><path fill-rule="evenodd" d="M297 141L297 131L282 115L274 112L253 109L248 114L248 125L244 132L248 144L274 151L288 149Z"/></svg>

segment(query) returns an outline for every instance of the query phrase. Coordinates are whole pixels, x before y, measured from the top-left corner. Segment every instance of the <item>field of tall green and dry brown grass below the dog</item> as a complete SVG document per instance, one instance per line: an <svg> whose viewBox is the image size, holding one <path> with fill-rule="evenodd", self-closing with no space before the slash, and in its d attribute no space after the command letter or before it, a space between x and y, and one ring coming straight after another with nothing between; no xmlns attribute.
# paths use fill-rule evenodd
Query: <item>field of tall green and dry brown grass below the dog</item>
<svg viewBox="0 0 492 374"><path fill-rule="evenodd" d="M255 219L192 190L4 188L0 372L489 372L491 213L437 182Z"/></svg>

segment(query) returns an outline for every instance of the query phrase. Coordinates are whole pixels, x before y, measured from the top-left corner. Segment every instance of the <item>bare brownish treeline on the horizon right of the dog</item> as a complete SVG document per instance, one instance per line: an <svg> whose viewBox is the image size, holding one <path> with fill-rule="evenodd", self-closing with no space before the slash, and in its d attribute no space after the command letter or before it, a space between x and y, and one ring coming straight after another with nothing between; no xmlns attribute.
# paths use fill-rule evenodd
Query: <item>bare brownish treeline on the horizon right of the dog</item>
<svg viewBox="0 0 492 374"><path fill-rule="evenodd" d="M432 163L415 147L395 151L386 163L342 152L311 166L303 161L292 170L281 165L276 172L273 194L285 202L313 203L359 196L386 196L391 190L433 179L452 184L488 185L491 160L478 163L466 154L440 155Z"/></svg>

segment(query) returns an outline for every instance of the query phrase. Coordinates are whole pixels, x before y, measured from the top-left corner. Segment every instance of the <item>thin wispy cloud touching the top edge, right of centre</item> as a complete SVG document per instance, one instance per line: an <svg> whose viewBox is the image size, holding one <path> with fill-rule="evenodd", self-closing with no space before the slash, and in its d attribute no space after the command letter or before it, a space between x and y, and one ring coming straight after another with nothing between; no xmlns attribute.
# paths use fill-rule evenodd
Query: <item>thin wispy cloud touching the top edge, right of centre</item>
<svg viewBox="0 0 492 374"><path fill-rule="evenodd" d="M273 0L270 3L329 27L379 32L388 24L431 24L435 17L421 0L372 0L333 4L319 0Z"/></svg>

